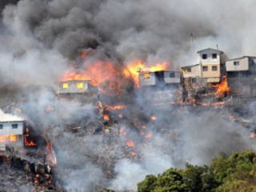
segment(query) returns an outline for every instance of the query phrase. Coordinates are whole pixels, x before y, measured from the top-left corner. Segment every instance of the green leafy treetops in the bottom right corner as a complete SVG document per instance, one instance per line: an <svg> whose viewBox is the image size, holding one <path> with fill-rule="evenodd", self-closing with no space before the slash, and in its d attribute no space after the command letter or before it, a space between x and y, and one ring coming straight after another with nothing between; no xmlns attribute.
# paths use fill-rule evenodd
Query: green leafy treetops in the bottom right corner
<svg viewBox="0 0 256 192"><path fill-rule="evenodd" d="M186 165L165 173L146 176L138 192L256 192L256 154L252 150L221 153L209 166Z"/></svg>

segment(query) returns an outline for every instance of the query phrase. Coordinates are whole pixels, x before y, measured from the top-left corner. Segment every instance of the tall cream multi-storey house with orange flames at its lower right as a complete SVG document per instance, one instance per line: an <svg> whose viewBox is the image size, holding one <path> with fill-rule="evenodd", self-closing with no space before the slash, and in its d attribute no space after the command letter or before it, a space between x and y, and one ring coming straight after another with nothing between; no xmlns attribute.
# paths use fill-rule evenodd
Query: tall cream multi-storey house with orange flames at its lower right
<svg viewBox="0 0 256 192"><path fill-rule="evenodd" d="M223 51L208 48L199 50L198 54L198 64L182 67L183 92L192 97L212 94L218 88L218 83L222 82L225 71L222 64Z"/></svg>

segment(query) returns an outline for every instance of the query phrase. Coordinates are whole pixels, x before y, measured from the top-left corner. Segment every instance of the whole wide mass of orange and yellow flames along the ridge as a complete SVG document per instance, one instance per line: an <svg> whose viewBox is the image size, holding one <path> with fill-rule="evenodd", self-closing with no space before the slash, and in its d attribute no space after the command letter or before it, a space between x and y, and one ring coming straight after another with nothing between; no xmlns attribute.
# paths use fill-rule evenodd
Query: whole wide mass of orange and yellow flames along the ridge
<svg viewBox="0 0 256 192"><path fill-rule="evenodd" d="M129 62L125 68L119 67L111 62L109 59L94 61L87 59L91 53L82 52L81 59L84 65L79 70L68 70L60 79L60 82L66 81L79 81L90 80L92 86L104 86L105 83L109 83L109 89L120 89L122 84L126 83L122 77L126 80L133 80L134 86L138 87L138 73L150 73L159 70L167 70L167 62L155 63L146 66L141 60ZM122 82L121 82L122 81ZM102 90L104 92L104 90Z"/></svg>

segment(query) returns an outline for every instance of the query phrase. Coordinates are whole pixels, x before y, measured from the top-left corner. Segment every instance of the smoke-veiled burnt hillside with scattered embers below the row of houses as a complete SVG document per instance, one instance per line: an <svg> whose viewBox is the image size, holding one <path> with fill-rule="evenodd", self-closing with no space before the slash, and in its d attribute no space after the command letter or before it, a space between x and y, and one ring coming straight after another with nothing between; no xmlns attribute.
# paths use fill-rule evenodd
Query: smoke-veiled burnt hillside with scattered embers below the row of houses
<svg viewBox="0 0 256 192"><path fill-rule="evenodd" d="M59 99L46 90L36 98L13 107L53 142L54 182L64 191L136 190L146 174L255 147L254 103L159 106L134 93L133 101L110 106ZM45 110L48 105L52 110Z"/></svg>

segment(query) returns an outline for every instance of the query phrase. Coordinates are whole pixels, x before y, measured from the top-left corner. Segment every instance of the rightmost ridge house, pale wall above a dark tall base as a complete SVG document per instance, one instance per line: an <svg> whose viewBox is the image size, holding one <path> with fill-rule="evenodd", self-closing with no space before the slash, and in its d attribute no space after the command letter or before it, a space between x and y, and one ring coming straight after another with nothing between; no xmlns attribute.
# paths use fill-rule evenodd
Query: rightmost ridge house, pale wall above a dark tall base
<svg viewBox="0 0 256 192"><path fill-rule="evenodd" d="M256 98L256 57L243 56L227 60L226 74L231 97Z"/></svg>

